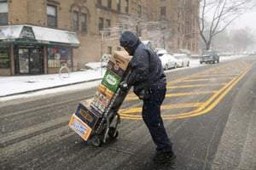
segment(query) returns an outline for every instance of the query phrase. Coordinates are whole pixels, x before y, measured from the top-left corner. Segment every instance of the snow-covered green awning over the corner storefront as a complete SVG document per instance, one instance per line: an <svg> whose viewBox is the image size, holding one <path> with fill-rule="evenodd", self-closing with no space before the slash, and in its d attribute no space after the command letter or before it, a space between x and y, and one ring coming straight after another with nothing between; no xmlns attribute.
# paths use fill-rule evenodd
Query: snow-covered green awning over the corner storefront
<svg viewBox="0 0 256 170"><path fill-rule="evenodd" d="M40 26L0 26L0 44L29 43L56 46L79 47L79 38L75 32L62 31Z"/></svg>

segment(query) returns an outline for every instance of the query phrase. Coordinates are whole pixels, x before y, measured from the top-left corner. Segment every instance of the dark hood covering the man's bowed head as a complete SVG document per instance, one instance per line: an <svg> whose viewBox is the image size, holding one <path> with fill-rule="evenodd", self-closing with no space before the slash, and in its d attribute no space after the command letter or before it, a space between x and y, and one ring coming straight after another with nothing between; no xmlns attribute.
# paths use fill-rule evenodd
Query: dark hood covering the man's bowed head
<svg viewBox="0 0 256 170"><path fill-rule="evenodd" d="M120 46L130 54L134 54L137 46L140 44L140 39L131 31L124 31L120 37Z"/></svg>

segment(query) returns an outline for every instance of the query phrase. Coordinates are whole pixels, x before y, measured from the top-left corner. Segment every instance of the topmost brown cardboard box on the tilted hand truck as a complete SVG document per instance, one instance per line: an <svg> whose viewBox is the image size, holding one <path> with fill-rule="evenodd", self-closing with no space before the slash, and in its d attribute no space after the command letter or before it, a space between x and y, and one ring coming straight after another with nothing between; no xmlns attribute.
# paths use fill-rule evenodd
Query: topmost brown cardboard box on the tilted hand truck
<svg viewBox="0 0 256 170"><path fill-rule="evenodd" d="M108 61L107 68L118 77L123 77L130 60L131 56L126 51L114 51Z"/></svg>

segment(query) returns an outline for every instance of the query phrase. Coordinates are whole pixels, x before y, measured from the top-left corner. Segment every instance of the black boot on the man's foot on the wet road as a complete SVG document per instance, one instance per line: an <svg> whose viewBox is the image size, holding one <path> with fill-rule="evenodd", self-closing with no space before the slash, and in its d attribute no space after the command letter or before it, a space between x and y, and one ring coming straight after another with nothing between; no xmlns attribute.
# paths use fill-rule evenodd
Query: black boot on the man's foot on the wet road
<svg viewBox="0 0 256 170"><path fill-rule="evenodd" d="M176 156L173 152L161 152L157 151L154 155L155 163L166 163L166 162L174 162L176 160Z"/></svg>

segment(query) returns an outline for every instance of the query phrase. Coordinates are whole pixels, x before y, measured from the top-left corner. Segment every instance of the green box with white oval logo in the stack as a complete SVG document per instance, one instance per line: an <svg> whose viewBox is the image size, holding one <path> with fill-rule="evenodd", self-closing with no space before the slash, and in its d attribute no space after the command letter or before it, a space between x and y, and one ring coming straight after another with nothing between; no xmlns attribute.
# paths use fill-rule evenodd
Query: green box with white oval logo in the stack
<svg viewBox="0 0 256 170"><path fill-rule="evenodd" d="M109 70L106 71L104 77L102 78L102 84L113 93L115 93L117 88L119 88L120 81L121 78Z"/></svg>

